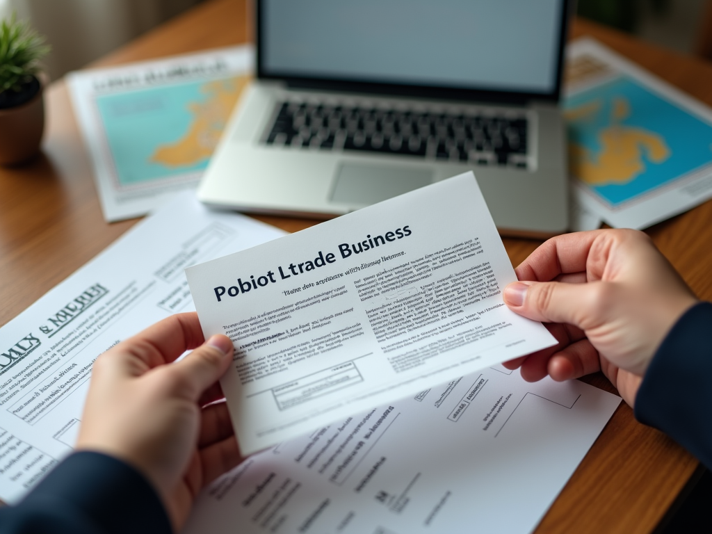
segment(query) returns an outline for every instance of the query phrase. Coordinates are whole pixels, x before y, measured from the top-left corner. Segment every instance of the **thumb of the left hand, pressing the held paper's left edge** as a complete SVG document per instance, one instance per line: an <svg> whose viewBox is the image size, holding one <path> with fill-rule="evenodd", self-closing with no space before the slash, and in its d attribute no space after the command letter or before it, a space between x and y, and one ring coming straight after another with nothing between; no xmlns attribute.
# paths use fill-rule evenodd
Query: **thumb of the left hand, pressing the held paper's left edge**
<svg viewBox="0 0 712 534"><path fill-rule="evenodd" d="M214 335L197 349L172 365L184 394L198 399L224 375L232 361L232 341L226 335Z"/></svg>

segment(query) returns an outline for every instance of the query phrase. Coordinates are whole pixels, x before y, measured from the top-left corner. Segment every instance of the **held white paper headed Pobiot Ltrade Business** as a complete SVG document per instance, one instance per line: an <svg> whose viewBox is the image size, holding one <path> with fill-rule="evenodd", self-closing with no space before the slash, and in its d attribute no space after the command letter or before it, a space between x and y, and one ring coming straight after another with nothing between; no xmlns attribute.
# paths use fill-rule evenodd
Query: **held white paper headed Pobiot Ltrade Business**
<svg viewBox="0 0 712 534"><path fill-rule="evenodd" d="M516 281L471 172L188 268L244 454L555 344L511 312Z"/></svg>

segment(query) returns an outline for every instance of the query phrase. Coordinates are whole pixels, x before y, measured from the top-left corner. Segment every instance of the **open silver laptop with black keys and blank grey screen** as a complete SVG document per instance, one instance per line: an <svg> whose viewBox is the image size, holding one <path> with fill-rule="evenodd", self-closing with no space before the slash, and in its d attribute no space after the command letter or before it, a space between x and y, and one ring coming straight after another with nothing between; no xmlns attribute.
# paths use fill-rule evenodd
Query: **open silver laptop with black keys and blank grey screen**
<svg viewBox="0 0 712 534"><path fill-rule="evenodd" d="M256 0L206 204L330 218L473 170L502 234L568 227L567 0Z"/></svg>

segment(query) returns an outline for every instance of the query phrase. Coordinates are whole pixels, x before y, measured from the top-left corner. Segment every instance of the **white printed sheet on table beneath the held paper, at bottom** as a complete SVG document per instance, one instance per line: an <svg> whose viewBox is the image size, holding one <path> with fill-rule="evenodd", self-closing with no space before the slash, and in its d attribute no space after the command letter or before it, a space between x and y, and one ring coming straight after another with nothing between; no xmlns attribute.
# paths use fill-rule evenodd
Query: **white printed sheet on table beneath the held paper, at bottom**
<svg viewBox="0 0 712 534"><path fill-rule="evenodd" d="M456 377L252 456L183 533L529 533L619 402L501 366Z"/></svg>

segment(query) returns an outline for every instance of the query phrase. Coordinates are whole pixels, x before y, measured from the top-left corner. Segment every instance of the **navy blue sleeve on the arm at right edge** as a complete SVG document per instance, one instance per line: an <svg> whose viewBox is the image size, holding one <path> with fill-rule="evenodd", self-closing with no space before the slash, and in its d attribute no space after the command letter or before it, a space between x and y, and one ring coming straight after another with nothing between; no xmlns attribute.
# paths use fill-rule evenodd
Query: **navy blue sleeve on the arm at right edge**
<svg viewBox="0 0 712 534"><path fill-rule="evenodd" d="M712 469L712 303L684 313L655 353L635 417L664 431Z"/></svg>

